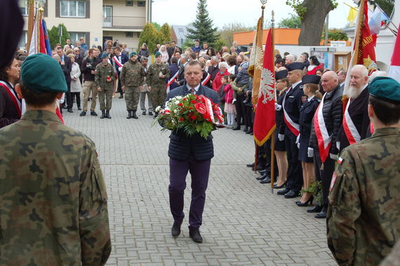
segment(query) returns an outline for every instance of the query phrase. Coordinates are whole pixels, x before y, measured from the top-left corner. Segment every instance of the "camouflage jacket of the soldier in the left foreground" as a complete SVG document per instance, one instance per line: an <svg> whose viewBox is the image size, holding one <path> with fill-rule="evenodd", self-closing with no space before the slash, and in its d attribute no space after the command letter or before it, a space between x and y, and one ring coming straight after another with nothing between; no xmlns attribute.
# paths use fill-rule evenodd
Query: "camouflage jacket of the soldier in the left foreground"
<svg viewBox="0 0 400 266"><path fill-rule="evenodd" d="M52 112L0 130L0 265L104 265L107 193L95 144Z"/></svg>

